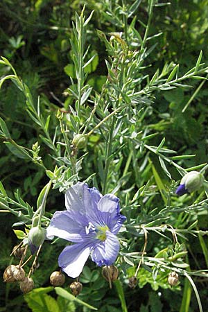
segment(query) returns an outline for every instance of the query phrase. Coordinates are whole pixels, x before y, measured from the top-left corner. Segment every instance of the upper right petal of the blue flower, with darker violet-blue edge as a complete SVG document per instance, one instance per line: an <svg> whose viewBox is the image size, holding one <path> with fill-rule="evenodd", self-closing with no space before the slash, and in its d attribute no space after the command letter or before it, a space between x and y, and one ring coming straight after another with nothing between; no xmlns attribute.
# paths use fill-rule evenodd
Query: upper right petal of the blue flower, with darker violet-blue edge
<svg viewBox="0 0 208 312"><path fill-rule="evenodd" d="M98 211L100 212L100 220L109 227L111 232L118 233L126 219L119 213L119 198L112 194L106 194L98 202Z"/></svg>

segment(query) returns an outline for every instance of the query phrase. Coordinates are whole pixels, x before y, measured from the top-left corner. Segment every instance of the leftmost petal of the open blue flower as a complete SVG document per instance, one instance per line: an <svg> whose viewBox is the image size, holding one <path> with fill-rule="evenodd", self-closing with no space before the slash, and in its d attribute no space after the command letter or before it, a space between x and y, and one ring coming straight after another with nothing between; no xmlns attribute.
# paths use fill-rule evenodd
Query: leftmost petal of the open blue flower
<svg viewBox="0 0 208 312"><path fill-rule="evenodd" d="M53 239L53 236L58 236L67 241L82 242L85 240L86 232L85 227L78 221L71 218L69 211L56 211L46 229L47 238Z"/></svg>

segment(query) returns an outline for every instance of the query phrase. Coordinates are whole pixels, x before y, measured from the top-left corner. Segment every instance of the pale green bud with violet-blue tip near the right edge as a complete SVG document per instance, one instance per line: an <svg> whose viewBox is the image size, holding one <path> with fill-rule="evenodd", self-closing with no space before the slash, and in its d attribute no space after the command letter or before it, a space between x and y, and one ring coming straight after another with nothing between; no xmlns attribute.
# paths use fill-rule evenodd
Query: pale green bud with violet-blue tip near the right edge
<svg viewBox="0 0 208 312"><path fill-rule="evenodd" d="M197 191L200 187L202 187L203 181L204 177L202 173L199 173L198 171L190 171L182 177L180 186L177 187L175 193L178 196L182 196L186 193Z"/></svg>

